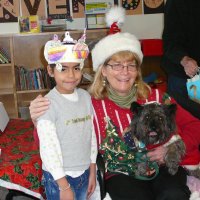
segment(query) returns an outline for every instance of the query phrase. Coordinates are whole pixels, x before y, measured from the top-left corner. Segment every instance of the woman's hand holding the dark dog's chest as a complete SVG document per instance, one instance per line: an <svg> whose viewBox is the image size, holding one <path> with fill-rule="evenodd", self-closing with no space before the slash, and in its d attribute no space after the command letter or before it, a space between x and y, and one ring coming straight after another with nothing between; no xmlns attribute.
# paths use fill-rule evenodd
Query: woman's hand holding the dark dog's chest
<svg viewBox="0 0 200 200"><path fill-rule="evenodd" d="M151 161L156 161L159 165L165 163L165 155L167 153L167 147L159 146L152 149L147 153L147 156Z"/></svg>

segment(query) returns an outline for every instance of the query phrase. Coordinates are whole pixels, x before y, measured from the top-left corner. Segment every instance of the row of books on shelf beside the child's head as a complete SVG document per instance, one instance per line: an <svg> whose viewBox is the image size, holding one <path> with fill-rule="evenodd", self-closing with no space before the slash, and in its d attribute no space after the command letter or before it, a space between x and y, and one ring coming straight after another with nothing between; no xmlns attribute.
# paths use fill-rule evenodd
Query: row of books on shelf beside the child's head
<svg viewBox="0 0 200 200"><path fill-rule="evenodd" d="M23 66L15 66L15 75L18 91L52 88L46 68L28 69Z"/></svg>

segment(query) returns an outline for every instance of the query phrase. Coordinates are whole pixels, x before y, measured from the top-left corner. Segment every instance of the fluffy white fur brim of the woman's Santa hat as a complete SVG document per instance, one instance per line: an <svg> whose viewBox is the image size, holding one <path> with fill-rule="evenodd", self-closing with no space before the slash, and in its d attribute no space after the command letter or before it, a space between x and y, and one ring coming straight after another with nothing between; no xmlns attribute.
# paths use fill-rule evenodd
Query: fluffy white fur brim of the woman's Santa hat
<svg viewBox="0 0 200 200"><path fill-rule="evenodd" d="M143 53L140 41L130 33L116 33L101 39L92 50L93 70L97 71L109 57L120 51L135 53L142 63Z"/></svg>

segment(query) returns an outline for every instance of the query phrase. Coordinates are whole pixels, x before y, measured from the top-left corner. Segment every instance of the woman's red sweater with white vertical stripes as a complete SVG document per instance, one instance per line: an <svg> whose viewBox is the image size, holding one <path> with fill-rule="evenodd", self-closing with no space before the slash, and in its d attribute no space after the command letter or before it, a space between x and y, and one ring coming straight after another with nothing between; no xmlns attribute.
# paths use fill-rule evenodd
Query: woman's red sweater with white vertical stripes
<svg viewBox="0 0 200 200"><path fill-rule="evenodd" d="M149 98L146 100L138 100L138 103L144 104L150 101L162 103L163 93L157 89L153 89ZM114 125L118 129L120 137L122 132L129 126L133 114L129 109L121 108L112 102L110 99L97 100L92 98L94 107L94 126L97 135L98 144L106 136L106 122L105 117L109 116ZM171 99L171 103L176 103ZM193 117L189 112L184 110L177 104L176 123L178 134L182 137L186 145L186 155L182 160L182 165L195 169L200 165L200 120Z"/></svg>

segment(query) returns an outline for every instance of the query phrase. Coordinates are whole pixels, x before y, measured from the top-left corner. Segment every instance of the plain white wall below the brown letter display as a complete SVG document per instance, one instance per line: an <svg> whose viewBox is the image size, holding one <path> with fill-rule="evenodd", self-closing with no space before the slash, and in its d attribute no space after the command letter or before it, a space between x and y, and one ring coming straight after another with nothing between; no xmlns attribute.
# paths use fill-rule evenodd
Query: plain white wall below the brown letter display
<svg viewBox="0 0 200 200"><path fill-rule="evenodd" d="M75 19L68 23L68 29L83 29L84 19ZM123 31L135 34L139 39L161 38L163 14L129 15L126 17ZM19 33L18 23L0 23L0 34Z"/></svg>

